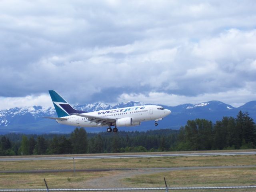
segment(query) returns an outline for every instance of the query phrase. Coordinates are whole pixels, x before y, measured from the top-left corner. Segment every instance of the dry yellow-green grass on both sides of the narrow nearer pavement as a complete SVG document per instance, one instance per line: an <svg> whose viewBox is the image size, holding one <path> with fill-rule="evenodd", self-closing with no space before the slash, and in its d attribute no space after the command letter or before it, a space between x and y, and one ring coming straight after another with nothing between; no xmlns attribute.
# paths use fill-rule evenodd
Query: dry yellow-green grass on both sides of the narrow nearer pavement
<svg viewBox="0 0 256 192"><path fill-rule="evenodd" d="M117 159L77 159L76 169L106 168L159 168L197 166L246 166L256 165L256 155L190 156ZM73 160L34 160L0 162L0 170L50 170L72 169ZM85 183L97 178L106 179L126 171L56 172L56 173L1 173L0 188L45 188L46 178L50 188L86 188ZM163 187L166 177L169 186L239 186L256 185L256 168L221 168L161 171L132 174L120 182L130 187ZM108 188L108 186L106 186ZM200 190L202 191L202 190ZM209 191L209 190L208 190ZM218 190L223 191L223 190ZM228 190L225 190L228 191ZM231 191L256 191L231 190Z"/></svg>

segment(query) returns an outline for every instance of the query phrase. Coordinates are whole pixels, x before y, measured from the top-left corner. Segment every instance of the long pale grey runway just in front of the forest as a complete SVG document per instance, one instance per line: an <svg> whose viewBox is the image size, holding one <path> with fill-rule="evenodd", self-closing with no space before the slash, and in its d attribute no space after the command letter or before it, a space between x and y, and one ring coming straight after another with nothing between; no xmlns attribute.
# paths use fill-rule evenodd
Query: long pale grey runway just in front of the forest
<svg viewBox="0 0 256 192"><path fill-rule="evenodd" d="M132 155L100 155L100 156L48 156L48 157L12 157L0 158L0 161L30 161L30 160L69 160L69 159L114 159L114 158L146 158L146 157L177 157L177 156L216 156L216 155L256 155L253 152L206 152L206 153L170 153L170 154L132 154Z"/></svg>

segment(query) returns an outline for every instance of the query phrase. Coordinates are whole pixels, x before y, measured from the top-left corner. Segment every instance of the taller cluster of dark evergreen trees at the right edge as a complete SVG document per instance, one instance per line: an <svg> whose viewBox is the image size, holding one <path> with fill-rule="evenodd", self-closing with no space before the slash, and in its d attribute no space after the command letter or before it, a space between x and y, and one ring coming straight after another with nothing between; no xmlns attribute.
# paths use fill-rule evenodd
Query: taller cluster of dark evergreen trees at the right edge
<svg viewBox="0 0 256 192"><path fill-rule="evenodd" d="M256 148L256 126L249 114L223 117L213 124L205 119L188 120L180 128L174 150L222 150Z"/></svg>

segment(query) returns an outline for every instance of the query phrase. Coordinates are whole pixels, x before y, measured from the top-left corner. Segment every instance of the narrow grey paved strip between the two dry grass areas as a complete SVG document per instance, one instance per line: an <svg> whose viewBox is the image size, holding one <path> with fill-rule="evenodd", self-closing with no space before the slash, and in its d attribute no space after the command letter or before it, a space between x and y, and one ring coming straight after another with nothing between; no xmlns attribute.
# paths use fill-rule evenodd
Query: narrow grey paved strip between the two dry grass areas
<svg viewBox="0 0 256 192"><path fill-rule="evenodd" d="M225 169L225 168L256 168L256 165L247 166L207 166L207 167L160 167L160 168L118 168L118 169L77 169L76 172L100 172L100 171L126 171L126 170L197 170L197 169ZM17 170L0 171L0 173L50 173L50 172L73 172L73 169L62 170Z"/></svg>

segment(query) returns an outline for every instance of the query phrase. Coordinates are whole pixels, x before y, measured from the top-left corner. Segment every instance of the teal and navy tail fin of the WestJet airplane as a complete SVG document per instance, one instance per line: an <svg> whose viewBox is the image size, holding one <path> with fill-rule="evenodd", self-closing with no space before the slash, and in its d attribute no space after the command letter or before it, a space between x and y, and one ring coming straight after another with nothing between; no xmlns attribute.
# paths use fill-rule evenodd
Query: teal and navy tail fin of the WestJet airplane
<svg viewBox="0 0 256 192"><path fill-rule="evenodd" d="M70 114L74 114L74 113L86 113L85 111L79 111L79 110L74 109L55 90L49 90L49 93L52 98L54 108L55 108L56 113L59 118L65 117L65 116L70 116Z"/></svg>

